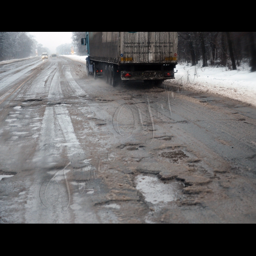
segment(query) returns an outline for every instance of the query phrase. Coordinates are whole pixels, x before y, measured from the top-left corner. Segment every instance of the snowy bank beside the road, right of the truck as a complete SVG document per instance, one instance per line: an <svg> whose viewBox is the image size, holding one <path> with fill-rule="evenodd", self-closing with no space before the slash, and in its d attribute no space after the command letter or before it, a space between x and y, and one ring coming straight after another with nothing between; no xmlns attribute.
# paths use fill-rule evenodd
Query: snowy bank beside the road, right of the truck
<svg viewBox="0 0 256 256"><path fill-rule="evenodd" d="M182 80L186 89L213 93L256 106L256 72L226 71L225 68L212 67L201 69L185 65L177 65L176 69L176 83L181 84Z"/></svg>

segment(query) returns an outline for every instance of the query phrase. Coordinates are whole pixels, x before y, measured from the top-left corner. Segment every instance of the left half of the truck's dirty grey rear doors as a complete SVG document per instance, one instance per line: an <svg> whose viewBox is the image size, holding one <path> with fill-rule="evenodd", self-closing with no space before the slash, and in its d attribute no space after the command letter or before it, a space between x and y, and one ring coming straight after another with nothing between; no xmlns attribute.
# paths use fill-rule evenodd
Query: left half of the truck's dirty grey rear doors
<svg viewBox="0 0 256 256"><path fill-rule="evenodd" d="M121 32L120 62L148 63L148 40L148 32Z"/></svg>

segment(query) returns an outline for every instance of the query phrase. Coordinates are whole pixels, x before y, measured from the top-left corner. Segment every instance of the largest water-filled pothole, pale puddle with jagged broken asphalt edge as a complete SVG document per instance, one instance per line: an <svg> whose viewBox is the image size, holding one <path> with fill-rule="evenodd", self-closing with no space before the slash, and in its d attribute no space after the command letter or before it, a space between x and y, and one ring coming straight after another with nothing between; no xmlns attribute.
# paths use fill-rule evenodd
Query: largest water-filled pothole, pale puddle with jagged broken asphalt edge
<svg viewBox="0 0 256 256"><path fill-rule="evenodd" d="M180 198L187 198L182 195L185 185L178 181L164 183L157 177L139 175L136 183L136 189L142 192L147 202L152 204L166 204Z"/></svg>

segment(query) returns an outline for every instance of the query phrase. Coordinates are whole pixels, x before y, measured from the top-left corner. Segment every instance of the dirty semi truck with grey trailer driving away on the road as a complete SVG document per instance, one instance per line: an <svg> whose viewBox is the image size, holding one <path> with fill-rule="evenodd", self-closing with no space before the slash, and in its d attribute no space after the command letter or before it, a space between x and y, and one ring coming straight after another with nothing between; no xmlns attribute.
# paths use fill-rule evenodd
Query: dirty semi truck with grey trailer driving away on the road
<svg viewBox="0 0 256 256"><path fill-rule="evenodd" d="M116 86L120 81L155 84L175 79L178 32L86 32L87 72Z"/></svg>

